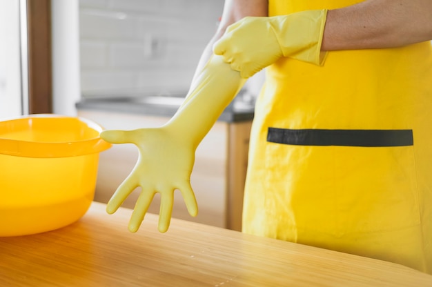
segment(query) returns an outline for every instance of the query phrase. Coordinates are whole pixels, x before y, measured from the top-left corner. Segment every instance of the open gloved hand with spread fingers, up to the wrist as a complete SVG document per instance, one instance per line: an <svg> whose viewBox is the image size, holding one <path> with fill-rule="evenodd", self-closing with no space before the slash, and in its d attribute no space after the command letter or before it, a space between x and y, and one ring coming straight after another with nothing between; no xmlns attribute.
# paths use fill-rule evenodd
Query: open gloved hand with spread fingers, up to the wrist
<svg viewBox="0 0 432 287"><path fill-rule="evenodd" d="M129 222L131 232L138 230L156 192L161 195L160 232L166 232L170 225L175 189L183 195L189 214L194 217L197 215L197 201L189 180L195 161L195 148L182 140L181 135L162 127L105 130L101 132L101 138L110 143L134 143L139 149L135 168L117 188L106 207L108 213L114 213L126 197L141 186L141 194Z"/></svg>

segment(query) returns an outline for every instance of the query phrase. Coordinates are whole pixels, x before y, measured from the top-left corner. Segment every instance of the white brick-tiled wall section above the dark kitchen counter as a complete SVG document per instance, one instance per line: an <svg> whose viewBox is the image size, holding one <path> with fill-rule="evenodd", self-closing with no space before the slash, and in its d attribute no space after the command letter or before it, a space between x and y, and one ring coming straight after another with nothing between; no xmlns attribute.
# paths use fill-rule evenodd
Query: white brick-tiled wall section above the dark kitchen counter
<svg viewBox="0 0 432 287"><path fill-rule="evenodd" d="M223 0L79 0L84 97L187 91Z"/></svg>

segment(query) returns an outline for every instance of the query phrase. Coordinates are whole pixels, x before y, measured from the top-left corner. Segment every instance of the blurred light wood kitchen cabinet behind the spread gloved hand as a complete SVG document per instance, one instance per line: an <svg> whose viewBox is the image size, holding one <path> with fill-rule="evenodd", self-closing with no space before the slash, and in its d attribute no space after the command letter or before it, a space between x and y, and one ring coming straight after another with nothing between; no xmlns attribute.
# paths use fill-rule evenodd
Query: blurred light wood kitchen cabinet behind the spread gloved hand
<svg viewBox="0 0 432 287"><path fill-rule="evenodd" d="M79 117L95 121L106 129L155 128L170 119L166 115L115 112L83 106L78 108ZM198 215L188 215L183 198L176 190L173 217L233 230L241 229L250 130L251 119L215 123L196 150L195 166L190 178L198 202ZM137 148L128 143L113 145L110 150L101 153L95 201L108 202L117 186L135 166L137 157ZM139 192L139 188L134 190L123 206L133 208ZM159 203L157 194L148 212L159 213Z"/></svg>

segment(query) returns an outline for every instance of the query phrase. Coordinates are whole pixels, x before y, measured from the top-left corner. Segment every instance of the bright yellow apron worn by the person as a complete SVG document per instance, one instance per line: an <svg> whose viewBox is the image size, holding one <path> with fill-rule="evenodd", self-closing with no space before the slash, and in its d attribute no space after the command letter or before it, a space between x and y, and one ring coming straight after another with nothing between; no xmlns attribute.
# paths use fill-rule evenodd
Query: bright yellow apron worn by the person
<svg viewBox="0 0 432 287"><path fill-rule="evenodd" d="M269 15L354 0L269 1ZM243 231L432 273L432 48L329 52L267 68Z"/></svg>

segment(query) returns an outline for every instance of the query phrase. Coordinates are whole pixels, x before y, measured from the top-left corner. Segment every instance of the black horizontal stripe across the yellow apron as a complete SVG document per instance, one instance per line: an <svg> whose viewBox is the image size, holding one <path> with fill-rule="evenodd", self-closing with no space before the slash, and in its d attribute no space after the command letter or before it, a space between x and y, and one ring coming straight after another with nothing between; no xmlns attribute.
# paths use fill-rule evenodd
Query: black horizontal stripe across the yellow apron
<svg viewBox="0 0 432 287"><path fill-rule="evenodd" d="M268 128L267 141L297 146L413 146L413 130Z"/></svg>

